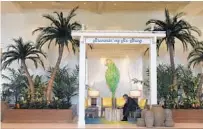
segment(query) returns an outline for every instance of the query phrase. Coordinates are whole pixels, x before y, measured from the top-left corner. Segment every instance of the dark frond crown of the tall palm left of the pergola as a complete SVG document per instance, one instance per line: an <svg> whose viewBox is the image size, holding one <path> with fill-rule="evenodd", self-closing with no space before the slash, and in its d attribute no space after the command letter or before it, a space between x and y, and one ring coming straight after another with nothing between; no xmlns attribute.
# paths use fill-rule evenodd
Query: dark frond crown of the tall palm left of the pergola
<svg viewBox="0 0 203 129"><path fill-rule="evenodd" d="M45 43L48 43L48 48L51 44L58 45L59 48L63 46L70 47L72 44L72 50L78 49L79 42L74 40L71 33L72 30L80 30L81 25L78 22L71 22L72 18L76 16L76 10L78 7L73 8L68 16L64 16L63 12L54 12L56 17L53 15L43 15L43 17L50 21L50 25L46 27L38 27L35 32L40 32L37 37L37 47L41 48ZM55 41L55 42L52 42Z"/></svg>

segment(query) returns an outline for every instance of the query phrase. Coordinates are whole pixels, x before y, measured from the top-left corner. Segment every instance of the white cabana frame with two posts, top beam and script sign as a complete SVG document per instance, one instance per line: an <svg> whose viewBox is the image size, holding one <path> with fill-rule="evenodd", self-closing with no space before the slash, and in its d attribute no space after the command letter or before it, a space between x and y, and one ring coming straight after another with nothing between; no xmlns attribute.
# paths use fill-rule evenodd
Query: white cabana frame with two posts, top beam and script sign
<svg viewBox="0 0 203 129"><path fill-rule="evenodd" d="M157 71L156 60L157 38L165 32L153 31L115 31L84 30L72 32L73 37L80 38L79 57L79 114L78 126L85 126L85 84L86 84L86 44L149 44L150 46L150 104L157 104Z"/></svg>

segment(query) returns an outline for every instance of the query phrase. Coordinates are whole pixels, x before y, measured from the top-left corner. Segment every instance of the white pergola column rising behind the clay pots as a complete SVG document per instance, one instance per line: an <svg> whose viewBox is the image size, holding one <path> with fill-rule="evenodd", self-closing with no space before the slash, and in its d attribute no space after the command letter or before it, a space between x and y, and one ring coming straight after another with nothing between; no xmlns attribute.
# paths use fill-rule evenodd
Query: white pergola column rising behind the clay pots
<svg viewBox="0 0 203 129"><path fill-rule="evenodd" d="M152 38L150 44L150 103L151 105L157 104L157 50L156 50L157 38Z"/></svg>

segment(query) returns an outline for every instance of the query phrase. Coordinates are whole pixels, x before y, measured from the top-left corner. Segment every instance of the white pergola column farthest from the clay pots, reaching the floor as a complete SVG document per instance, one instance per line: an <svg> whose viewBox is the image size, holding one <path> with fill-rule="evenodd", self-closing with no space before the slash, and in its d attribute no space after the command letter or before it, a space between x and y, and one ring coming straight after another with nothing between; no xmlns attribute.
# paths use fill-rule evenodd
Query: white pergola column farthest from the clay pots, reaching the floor
<svg viewBox="0 0 203 129"><path fill-rule="evenodd" d="M80 57L79 57L79 114L78 126L85 127L85 69L86 69L86 45L84 37L80 38Z"/></svg>

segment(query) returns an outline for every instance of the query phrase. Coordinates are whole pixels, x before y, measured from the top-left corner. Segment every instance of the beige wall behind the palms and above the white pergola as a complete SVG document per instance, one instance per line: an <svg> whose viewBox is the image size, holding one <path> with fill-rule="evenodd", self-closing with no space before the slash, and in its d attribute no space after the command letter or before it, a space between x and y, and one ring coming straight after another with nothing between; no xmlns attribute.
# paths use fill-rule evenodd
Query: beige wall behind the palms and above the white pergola
<svg viewBox="0 0 203 129"><path fill-rule="evenodd" d="M52 13L53 10L33 10L25 13L13 13L13 14L3 14L1 18L1 30L2 37L1 43L4 44L4 47L7 44L11 44L12 38L17 38L22 36L24 40L35 41L36 35L32 35L31 32L39 26L46 26L49 22L42 18L42 14ZM65 14L68 14L69 10L63 10ZM88 11L78 10L77 16L75 19L82 24L85 24L87 29L95 30L144 30L146 28L145 23L148 19L156 18L163 19L163 12L117 12L117 13L103 13L96 14ZM203 17L201 16L190 16L185 17L188 22L192 25L197 26L203 31ZM200 37L203 40L203 37ZM176 64L187 65L187 55L188 52L183 52L180 42L176 42L175 48L175 62ZM159 63L169 63L169 56L166 51L166 47L162 46L163 49L160 51L160 57L158 57ZM53 45L49 50L47 47L44 47L44 50L48 54L48 58L45 61L45 66L54 66L58 52L56 47ZM144 52L144 51L143 51ZM148 61L145 61L148 62ZM28 67L31 73L36 74L45 74L43 69L40 68L35 70L33 65L28 63ZM74 56L69 54L68 51L64 52L61 66L69 64L70 67L74 67L78 63L78 55ZM148 63L144 64L146 68ZM16 67L16 64L13 64L12 67ZM195 73L200 72L200 68L194 70Z"/></svg>

